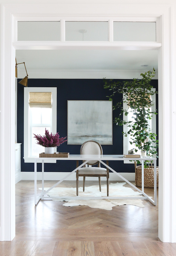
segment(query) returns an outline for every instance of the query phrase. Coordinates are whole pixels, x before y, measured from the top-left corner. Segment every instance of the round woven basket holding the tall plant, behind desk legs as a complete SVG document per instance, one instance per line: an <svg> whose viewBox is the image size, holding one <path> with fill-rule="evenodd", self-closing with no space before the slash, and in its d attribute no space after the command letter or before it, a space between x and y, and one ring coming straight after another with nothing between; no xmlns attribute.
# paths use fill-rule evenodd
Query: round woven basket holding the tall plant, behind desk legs
<svg viewBox="0 0 176 256"><path fill-rule="evenodd" d="M144 188L154 188L154 168L144 168ZM156 167L156 180L158 188L158 167ZM135 161L135 182L136 186L142 186L142 166Z"/></svg>

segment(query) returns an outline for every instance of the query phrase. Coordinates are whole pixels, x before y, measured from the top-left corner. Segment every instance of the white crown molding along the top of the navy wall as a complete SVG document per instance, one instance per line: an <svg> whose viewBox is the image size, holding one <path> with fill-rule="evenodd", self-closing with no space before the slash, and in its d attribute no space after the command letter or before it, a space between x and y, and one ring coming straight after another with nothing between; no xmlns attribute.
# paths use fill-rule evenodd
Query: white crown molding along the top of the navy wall
<svg viewBox="0 0 176 256"><path fill-rule="evenodd" d="M133 79L139 77L143 70L28 70L30 78L37 79ZM18 70L18 77L23 78L24 72ZM158 75L155 76L158 79Z"/></svg>

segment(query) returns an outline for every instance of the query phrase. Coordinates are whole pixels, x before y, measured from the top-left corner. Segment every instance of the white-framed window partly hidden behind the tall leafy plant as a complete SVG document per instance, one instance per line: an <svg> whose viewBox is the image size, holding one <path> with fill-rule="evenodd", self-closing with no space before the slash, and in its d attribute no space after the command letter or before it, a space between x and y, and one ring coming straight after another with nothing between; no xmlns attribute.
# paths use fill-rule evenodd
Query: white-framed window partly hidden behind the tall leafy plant
<svg viewBox="0 0 176 256"><path fill-rule="evenodd" d="M152 88L151 90L155 91L156 89ZM156 94L151 95L151 100L152 100L152 103L154 104L154 106L151 107L151 111L155 111L155 109L156 109ZM127 103L123 103L123 108L124 109L127 108ZM123 115L123 120L130 121L130 120L133 120L132 117L133 117L133 113L129 111L129 114L127 116ZM156 115L153 115L152 118L149 120L149 122L150 122L149 123L150 130L156 134ZM128 127L126 125L123 125L123 131L128 132ZM123 153L128 154L128 150L130 150L132 148L135 148L135 145L130 144L130 136L126 137L123 135ZM135 154L141 154L140 150L138 150L138 152ZM124 161L124 163L129 164L129 163L133 163L133 162Z"/></svg>

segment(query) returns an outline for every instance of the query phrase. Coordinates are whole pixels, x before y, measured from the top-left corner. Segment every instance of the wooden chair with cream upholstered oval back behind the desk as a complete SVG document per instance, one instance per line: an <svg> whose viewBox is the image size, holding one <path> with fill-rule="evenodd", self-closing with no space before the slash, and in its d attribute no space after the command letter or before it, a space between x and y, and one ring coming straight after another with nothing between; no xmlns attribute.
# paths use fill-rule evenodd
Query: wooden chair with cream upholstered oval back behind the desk
<svg viewBox="0 0 176 256"><path fill-rule="evenodd" d="M81 155L102 155L103 149L101 145L93 140L88 140L83 143L80 149ZM85 162L83 160L83 162ZM108 165L108 161L106 161ZM101 177L107 178L107 196L109 196L109 169L101 168L99 161L89 161L87 165L91 165L91 167L86 167L84 165L80 169L76 171L76 195L78 195L78 178L83 177L83 191L85 189L85 177L99 177L99 187L101 191ZM92 165L98 165L98 167L92 167ZM76 161L76 167L78 167L78 161Z"/></svg>

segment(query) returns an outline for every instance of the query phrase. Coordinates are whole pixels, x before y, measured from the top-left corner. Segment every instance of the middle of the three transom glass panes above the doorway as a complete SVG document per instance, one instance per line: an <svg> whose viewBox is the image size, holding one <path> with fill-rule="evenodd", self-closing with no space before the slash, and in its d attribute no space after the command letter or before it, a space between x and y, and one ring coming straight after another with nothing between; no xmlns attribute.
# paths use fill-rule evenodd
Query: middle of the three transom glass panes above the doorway
<svg viewBox="0 0 176 256"><path fill-rule="evenodd" d="M66 21L66 41L108 41L108 21Z"/></svg>

